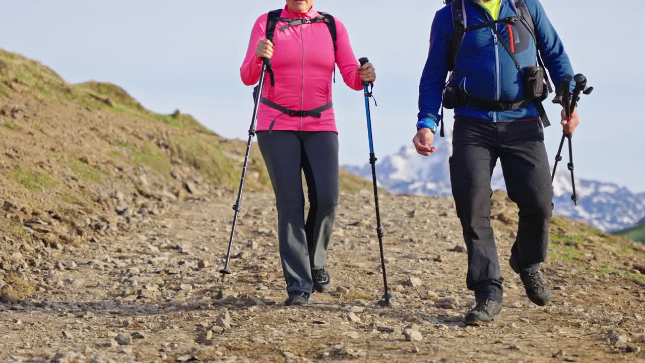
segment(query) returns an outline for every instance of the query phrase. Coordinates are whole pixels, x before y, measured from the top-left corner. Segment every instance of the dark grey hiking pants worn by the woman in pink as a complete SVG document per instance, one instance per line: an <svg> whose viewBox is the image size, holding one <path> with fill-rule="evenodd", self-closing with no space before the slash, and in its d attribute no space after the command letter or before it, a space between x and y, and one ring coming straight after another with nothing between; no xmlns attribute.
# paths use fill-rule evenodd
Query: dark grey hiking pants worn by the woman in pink
<svg viewBox="0 0 645 363"><path fill-rule="evenodd" d="M313 293L312 269L324 267L338 209L338 134L257 133L278 211L278 239L287 291ZM309 213L304 219L303 178Z"/></svg>

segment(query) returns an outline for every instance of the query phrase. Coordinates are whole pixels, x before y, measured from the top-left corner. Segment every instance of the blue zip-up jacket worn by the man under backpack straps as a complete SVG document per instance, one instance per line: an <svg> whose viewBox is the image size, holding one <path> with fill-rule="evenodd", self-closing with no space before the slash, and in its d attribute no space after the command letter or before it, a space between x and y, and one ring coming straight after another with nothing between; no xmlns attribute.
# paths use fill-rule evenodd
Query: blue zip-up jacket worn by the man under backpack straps
<svg viewBox="0 0 645 363"><path fill-rule="evenodd" d="M463 0L466 5L467 26L491 21L490 15L482 17L474 0ZM499 19L516 16L515 0L502 0ZM573 67L564 51L564 45L555 28L551 25L539 0L526 0L528 11L535 23L535 36L538 39L544 66L548 69L555 89L566 75L573 76ZM484 11L485 12L485 11ZM506 44L510 45L508 25L499 23L497 30ZM419 87L419 119L430 118L439 123L442 91L448 75L452 12L450 5L444 6L435 14L430 33L430 53L424 67ZM536 46L526 26L517 22L511 26L515 57L522 68L536 65ZM462 91L473 98L492 102L519 102L524 99L524 85L520 72L504 46L490 27L466 32L464 41L455 59L455 81ZM573 86L571 84L571 90ZM473 107L455 109L455 118L474 118L489 122L515 121L519 119L539 119L533 105L524 109L493 112Z"/></svg>

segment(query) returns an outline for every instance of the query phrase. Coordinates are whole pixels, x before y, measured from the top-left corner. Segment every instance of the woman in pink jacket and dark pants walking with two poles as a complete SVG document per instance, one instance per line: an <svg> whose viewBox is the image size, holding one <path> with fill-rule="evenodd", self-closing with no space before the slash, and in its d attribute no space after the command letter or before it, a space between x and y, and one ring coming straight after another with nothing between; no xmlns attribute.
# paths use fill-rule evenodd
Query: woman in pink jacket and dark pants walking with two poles
<svg viewBox="0 0 645 363"><path fill-rule="evenodd" d="M359 66L344 25L313 10L313 0L286 0L273 41L266 39L268 17L260 16L253 26L240 74L245 85L254 85L263 58L271 60L273 74L266 79L272 81L261 90L257 140L275 192L289 295L285 304L303 305L314 290L325 292L331 286L325 260L339 178L332 74L338 65L346 85L355 90L362 90L362 81L373 82L376 74L370 63ZM310 204L306 221L303 171Z"/></svg>

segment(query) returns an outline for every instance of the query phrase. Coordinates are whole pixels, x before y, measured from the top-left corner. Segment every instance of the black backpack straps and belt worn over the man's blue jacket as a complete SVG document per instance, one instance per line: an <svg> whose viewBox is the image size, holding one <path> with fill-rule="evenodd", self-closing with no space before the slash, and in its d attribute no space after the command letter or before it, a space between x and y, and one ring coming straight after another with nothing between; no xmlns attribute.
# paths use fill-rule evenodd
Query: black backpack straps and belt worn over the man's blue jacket
<svg viewBox="0 0 645 363"><path fill-rule="evenodd" d="M530 89L525 89L525 94L531 94L531 93L541 94L539 97L526 96L527 97L526 99L518 103L500 103L500 102L484 103L484 102L472 100L470 101L470 105L474 105L475 107L482 107L484 109L491 109L494 106L497 108L502 108L503 110L510 110L510 109L519 109L522 107L526 107L530 104L533 104L535 105L535 108L538 110L540 114L540 118L542 119L542 123L544 123L544 127L548 127L550 125L550 122L549 122L548 116L546 115L546 110L544 110L544 106L542 106L542 101L546 99L548 94L553 92L553 88L551 87L551 82L548 78L546 68L544 68L544 62L542 62L542 57L540 55L540 48L539 48L539 39L537 39L537 36L535 34L535 23L533 23L533 18L531 17L531 14L528 11L528 8L526 6L526 0L517 0L517 1L508 0L510 1L511 6L513 6L513 10L515 10L516 16L505 17L503 19L497 19L493 21L486 21L485 23L470 26L470 27L468 26L468 19L465 14L466 6L464 1L468 1L468 0L444 0L444 3L446 3L446 5L450 5L451 12L452 12L452 20L453 20L453 30L452 30L451 41L450 41L449 70L451 72L454 72L455 70L454 69L455 59L457 59L457 55L459 54L459 48L461 48L461 43L464 40L466 33L472 30L490 27L493 30L493 32L497 35L499 42L502 43L502 46L506 48L506 51L513 59L513 62L515 62L515 66L517 67L517 70L520 72L520 74L522 74L522 76L524 76L524 80L525 80L524 86L527 88L529 87L529 85L533 86ZM482 8L481 9L482 16L484 16L484 19L488 19L485 12L486 10ZM526 70L522 70L521 65L519 64L519 62L517 61L517 58L513 54L515 53L514 44L511 43L511 45L508 45L508 43L504 41L504 38L501 36L501 34L499 34L499 31L495 27L495 25L499 23L506 23L509 26L510 34L513 34L511 25L515 25L515 23L521 23L522 25L524 25L524 28L526 28L530 36L533 38L533 41L535 42L537 63L539 67L531 66L531 67L527 67ZM450 79L452 79L452 77L453 77L453 74L450 75ZM544 89L543 86L546 86L546 89ZM448 89L449 88L446 87L446 93L448 92ZM444 94L444 102L445 101L446 101L446 94ZM441 123L442 123L441 125L442 129L443 129L443 120L441 120Z"/></svg>

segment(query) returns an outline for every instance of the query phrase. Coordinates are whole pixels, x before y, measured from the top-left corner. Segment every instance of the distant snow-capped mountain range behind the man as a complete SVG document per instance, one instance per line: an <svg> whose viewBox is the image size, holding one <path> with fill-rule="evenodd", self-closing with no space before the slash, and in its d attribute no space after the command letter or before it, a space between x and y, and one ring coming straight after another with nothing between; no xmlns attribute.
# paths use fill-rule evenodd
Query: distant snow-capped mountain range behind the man
<svg viewBox="0 0 645 363"><path fill-rule="evenodd" d="M450 166L452 155L452 131L446 129L445 138L435 138L437 152L430 158L417 154L414 147L402 147L396 154L377 162L379 186L399 194L452 195ZM350 172L372 178L369 164L362 167L344 166ZM506 190L499 162L491 180L493 190ZM566 161L557 172L553 189L555 213L582 220L602 231L624 229L645 217L645 193L634 194L625 187L613 183L576 178L579 205L571 201L571 175L566 170Z"/></svg>

